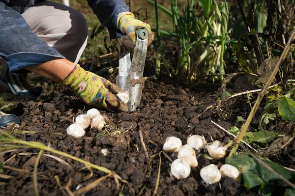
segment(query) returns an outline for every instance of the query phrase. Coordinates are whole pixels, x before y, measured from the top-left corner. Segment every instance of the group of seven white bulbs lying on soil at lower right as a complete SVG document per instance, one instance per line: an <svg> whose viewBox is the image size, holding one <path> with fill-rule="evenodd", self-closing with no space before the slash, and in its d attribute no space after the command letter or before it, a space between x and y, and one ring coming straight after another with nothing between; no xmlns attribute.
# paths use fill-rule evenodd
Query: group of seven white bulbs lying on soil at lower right
<svg viewBox="0 0 295 196"><path fill-rule="evenodd" d="M188 137L187 144L182 145L182 142L177 137L169 137L165 140L163 150L168 153L177 152L177 159L171 164L171 173L177 179L187 178L190 175L191 168L198 167L196 150L199 152L206 148L210 157L219 160L226 156L226 147L222 146L219 140L215 140L207 144L204 136L193 135ZM232 166L225 164L220 169L214 164L210 164L201 169L200 175L205 183L214 184L219 182L222 177L231 177L240 181L240 171Z"/></svg>

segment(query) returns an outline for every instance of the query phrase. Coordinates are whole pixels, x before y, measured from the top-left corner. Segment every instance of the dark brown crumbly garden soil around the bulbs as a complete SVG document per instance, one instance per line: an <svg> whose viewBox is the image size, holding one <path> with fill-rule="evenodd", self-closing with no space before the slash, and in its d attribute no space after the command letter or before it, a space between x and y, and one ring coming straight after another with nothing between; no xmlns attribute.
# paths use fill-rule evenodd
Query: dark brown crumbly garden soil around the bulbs
<svg viewBox="0 0 295 196"><path fill-rule="evenodd" d="M115 75L108 79L114 82ZM85 194L87 196L114 196L118 193L124 196L139 194L151 196L157 182L160 158L158 155L150 157L162 150L167 137L176 136L184 144L189 135L196 134L205 136L208 142L213 139L227 143L232 138L212 124L211 120L229 130L235 124L237 116L245 117L250 112L246 96L234 97L222 102L221 107L217 107L215 94L218 85L189 87L178 82L177 79L162 77L160 80L145 83L142 103L138 111L131 113L101 110L107 118L107 126L103 131L88 128L84 137L75 139L66 134L66 128L72 123L73 118L92 107L86 106L59 84L46 82L48 84L44 85L45 95L33 100L17 101L15 99L16 108L10 111L15 113L21 122L21 126L14 127L14 131L37 133L12 132L12 135L21 140L38 141L50 145L59 151L115 171L122 179L128 181L128 183L119 181L120 187L117 190L114 178L109 177L89 190ZM243 87L243 84L245 83L236 80L232 82L231 89L242 91L249 88L249 86ZM206 110L211 105L212 107ZM255 127L257 124L254 122L252 126ZM288 126L279 120L274 121L269 129L277 133L288 132ZM140 140L139 130L143 133L148 158ZM103 148L108 149L108 155L104 156L101 153ZM0 155L0 162L9 159L6 166L23 169L16 171L2 168L3 174L13 178L0 180L4 182L4 185L0 186L0 196L34 195L32 172L38 152L38 149L29 148ZM44 153L55 155L46 151ZM204 156L205 154L204 150L201 153L197 152L199 166L192 169L188 178L177 180L171 175L170 160L161 153L157 194L159 196L257 195L257 190L249 192L242 184L231 178L221 180L220 184L209 186L204 184L200 177L200 169L211 163L218 167L224 164L224 160L209 160ZM276 153L270 158L285 167L295 168L294 158L292 159L294 154L293 141L287 151ZM13 155L16 156L11 158ZM84 187L106 175L96 169L91 169L93 172L91 174L85 165L70 158L55 156L67 162L73 169L56 159L42 155L38 166L40 196L63 195L55 176L59 177L62 187L67 186L74 192L78 185ZM169 156L174 160L177 158L177 153Z"/></svg>

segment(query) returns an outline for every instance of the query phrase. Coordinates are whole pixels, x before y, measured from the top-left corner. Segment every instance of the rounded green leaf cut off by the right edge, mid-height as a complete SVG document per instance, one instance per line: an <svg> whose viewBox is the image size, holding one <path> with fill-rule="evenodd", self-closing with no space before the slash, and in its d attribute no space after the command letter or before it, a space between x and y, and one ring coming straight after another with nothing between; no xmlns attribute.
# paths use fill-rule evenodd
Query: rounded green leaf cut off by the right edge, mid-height
<svg viewBox="0 0 295 196"><path fill-rule="evenodd" d="M278 111L284 120L292 122L295 120L295 101L290 97L290 93L280 99Z"/></svg>

